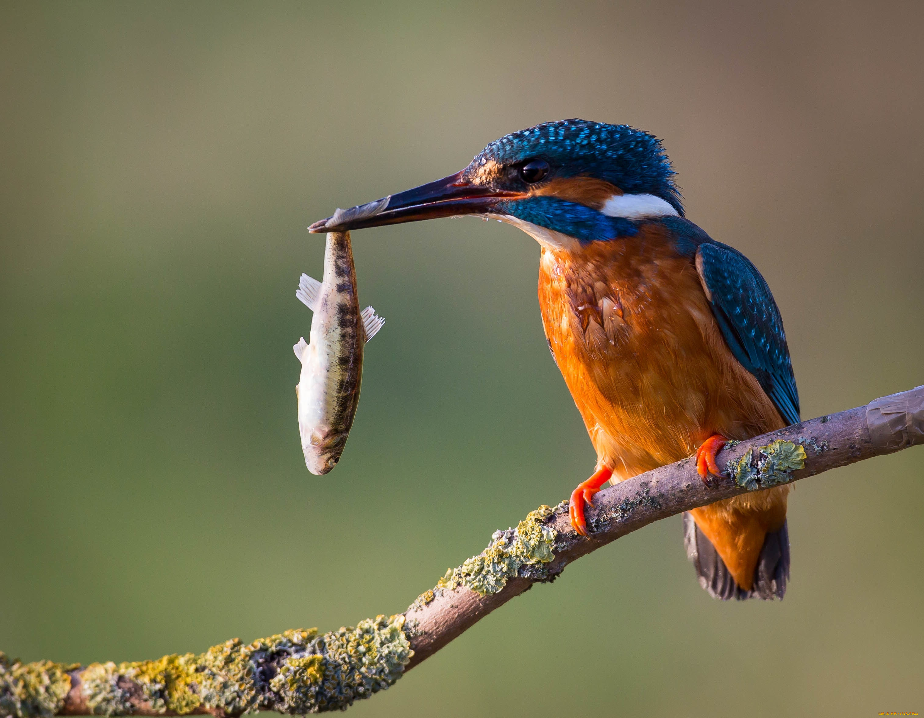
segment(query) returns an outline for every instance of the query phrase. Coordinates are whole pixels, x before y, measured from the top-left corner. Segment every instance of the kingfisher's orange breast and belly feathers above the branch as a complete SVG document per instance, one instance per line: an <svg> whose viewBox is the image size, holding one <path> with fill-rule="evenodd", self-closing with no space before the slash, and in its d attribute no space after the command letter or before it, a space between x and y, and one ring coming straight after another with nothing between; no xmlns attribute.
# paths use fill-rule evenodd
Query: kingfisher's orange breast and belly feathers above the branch
<svg viewBox="0 0 924 718"><path fill-rule="evenodd" d="M543 246L539 302L598 468L617 481L690 456L713 433L784 426L660 225L574 251Z"/></svg>

